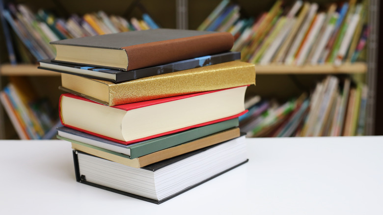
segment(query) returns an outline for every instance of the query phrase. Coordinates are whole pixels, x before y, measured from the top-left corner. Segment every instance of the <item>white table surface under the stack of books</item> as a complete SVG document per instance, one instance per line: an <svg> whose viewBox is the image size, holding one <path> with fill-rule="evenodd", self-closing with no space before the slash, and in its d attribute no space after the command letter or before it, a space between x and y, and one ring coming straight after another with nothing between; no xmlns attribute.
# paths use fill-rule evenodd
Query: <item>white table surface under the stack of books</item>
<svg viewBox="0 0 383 215"><path fill-rule="evenodd" d="M76 182L69 142L0 141L0 215L383 215L383 136L248 139L249 162L156 205Z"/></svg>

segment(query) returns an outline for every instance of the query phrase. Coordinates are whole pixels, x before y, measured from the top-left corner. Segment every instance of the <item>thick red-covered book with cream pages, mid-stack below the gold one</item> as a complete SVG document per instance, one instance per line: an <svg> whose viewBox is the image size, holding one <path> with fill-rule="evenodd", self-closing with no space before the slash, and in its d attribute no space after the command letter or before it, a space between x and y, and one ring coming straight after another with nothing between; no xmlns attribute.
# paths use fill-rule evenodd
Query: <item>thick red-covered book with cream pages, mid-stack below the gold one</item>
<svg viewBox="0 0 383 215"><path fill-rule="evenodd" d="M113 107L66 93L60 97L59 116L66 127L130 144L239 117L246 113L246 88L240 86Z"/></svg>

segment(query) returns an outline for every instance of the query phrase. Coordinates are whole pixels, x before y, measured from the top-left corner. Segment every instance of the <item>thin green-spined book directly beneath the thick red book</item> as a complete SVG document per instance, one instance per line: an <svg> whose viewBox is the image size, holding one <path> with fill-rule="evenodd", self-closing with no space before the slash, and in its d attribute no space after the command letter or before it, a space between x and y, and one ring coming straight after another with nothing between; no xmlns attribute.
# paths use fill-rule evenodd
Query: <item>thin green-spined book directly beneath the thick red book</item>
<svg viewBox="0 0 383 215"><path fill-rule="evenodd" d="M57 128L57 138L65 139L70 142L82 142L92 146L97 146L113 152L128 155L130 159L138 158L153 152L157 152L169 147L202 138L211 134L238 127L238 118L225 120L222 122L189 129L175 134L160 136L157 138L137 142L129 145L120 144L94 135L76 131L64 126Z"/></svg>

